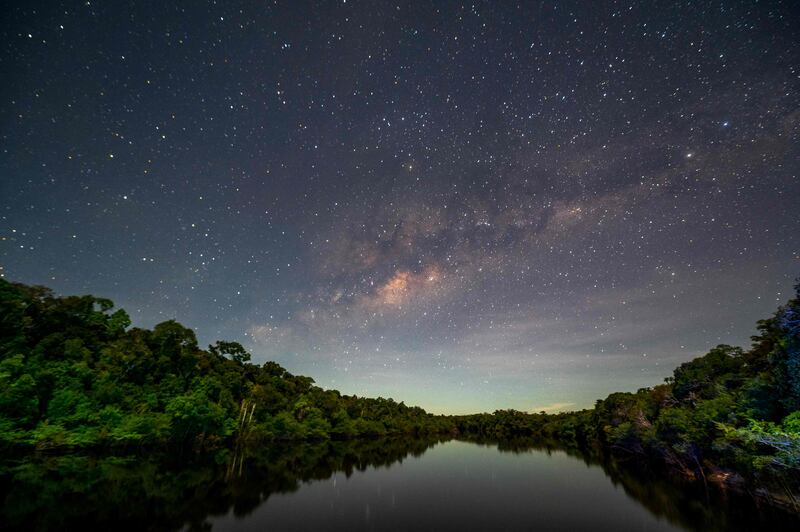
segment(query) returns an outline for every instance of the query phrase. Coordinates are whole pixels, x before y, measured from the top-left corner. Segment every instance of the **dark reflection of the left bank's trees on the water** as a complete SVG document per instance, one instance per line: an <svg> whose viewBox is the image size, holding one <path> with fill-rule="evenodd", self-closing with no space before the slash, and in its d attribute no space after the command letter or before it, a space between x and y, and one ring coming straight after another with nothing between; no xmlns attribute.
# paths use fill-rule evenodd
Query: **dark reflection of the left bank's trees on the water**
<svg viewBox="0 0 800 532"><path fill-rule="evenodd" d="M273 493L335 472L350 476L420 456L438 439L271 445L213 455L36 456L0 466L5 529L190 530L231 509L252 512ZM235 464L235 467L231 467Z"/></svg>

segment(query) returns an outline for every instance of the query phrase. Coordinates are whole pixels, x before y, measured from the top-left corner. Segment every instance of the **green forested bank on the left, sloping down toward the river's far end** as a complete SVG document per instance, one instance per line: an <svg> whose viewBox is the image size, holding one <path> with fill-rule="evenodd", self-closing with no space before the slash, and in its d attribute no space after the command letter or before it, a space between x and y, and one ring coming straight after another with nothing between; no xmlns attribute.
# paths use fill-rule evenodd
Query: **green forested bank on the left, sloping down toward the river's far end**
<svg viewBox="0 0 800 532"><path fill-rule="evenodd" d="M107 299L0 279L0 446L213 447L452 429L418 407L251 364L235 342L201 349L175 321L130 325Z"/></svg>

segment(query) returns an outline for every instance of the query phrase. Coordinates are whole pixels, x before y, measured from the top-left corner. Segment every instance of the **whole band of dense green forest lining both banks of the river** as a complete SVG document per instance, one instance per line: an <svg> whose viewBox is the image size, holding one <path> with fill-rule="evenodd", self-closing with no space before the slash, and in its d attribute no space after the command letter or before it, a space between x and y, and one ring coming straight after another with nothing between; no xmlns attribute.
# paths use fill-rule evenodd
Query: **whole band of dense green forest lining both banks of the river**
<svg viewBox="0 0 800 532"><path fill-rule="evenodd" d="M392 434L554 442L640 457L704 482L800 493L800 283L752 346L720 345L664 384L591 410L435 416L323 390L235 342L202 349L175 321L131 328L93 296L0 279L0 445L214 448Z"/></svg>

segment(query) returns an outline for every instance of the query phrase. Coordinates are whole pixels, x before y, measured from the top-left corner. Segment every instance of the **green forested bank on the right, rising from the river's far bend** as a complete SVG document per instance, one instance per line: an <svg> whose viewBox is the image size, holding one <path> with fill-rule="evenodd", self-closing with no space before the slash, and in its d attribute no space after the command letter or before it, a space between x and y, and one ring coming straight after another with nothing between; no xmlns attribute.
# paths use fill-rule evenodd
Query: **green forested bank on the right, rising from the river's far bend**
<svg viewBox="0 0 800 532"><path fill-rule="evenodd" d="M455 418L461 433L525 436L642 457L686 476L769 485L800 508L800 283L758 322L748 350L720 345L665 384L614 393L594 409Z"/></svg>

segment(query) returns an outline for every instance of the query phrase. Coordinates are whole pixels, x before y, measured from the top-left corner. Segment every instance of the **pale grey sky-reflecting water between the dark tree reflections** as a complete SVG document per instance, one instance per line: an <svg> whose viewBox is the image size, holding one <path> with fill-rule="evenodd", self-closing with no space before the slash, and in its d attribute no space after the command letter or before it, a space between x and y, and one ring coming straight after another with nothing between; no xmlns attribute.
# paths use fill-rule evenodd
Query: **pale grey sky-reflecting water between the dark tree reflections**
<svg viewBox="0 0 800 532"><path fill-rule="evenodd" d="M564 452L449 441L391 467L336 472L223 530L680 530Z"/></svg>

